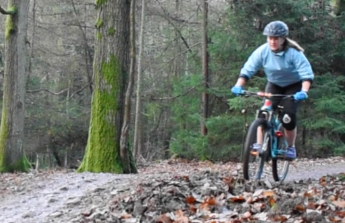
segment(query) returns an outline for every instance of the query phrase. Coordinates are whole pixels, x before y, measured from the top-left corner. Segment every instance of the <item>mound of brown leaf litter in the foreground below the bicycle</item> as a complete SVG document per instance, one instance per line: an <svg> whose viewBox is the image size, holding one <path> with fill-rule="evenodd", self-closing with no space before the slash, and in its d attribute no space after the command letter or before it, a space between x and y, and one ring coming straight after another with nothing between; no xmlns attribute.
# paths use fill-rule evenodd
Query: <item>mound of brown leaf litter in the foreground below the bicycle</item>
<svg viewBox="0 0 345 223"><path fill-rule="evenodd" d="M244 181L223 172L154 176L75 222L345 222L345 174L298 183Z"/></svg>

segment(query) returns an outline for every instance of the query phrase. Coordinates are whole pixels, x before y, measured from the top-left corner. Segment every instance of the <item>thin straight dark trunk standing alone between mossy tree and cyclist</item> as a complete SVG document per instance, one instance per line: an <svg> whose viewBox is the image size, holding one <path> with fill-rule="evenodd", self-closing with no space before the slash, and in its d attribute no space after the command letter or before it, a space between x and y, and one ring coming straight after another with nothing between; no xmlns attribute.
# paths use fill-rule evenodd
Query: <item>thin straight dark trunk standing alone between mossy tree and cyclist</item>
<svg viewBox="0 0 345 223"><path fill-rule="evenodd" d="M207 92L209 88L209 52L207 50L208 38L207 38L207 14L208 14L208 2L202 0L202 74L203 74L203 86L202 91L202 121L201 121L201 134L207 135L206 120L209 116L209 94Z"/></svg>

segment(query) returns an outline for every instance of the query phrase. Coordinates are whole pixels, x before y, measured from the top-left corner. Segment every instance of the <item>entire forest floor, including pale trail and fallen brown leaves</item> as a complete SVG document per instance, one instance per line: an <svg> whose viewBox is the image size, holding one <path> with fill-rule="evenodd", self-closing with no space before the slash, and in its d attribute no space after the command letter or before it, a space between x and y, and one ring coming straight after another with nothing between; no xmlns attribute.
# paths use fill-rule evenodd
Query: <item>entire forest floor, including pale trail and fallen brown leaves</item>
<svg viewBox="0 0 345 223"><path fill-rule="evenodd" d="M165 160L139 174L0 174L1 223L343 222L345 159L297 159L287 179L243 181L240 163Z"/></svg>

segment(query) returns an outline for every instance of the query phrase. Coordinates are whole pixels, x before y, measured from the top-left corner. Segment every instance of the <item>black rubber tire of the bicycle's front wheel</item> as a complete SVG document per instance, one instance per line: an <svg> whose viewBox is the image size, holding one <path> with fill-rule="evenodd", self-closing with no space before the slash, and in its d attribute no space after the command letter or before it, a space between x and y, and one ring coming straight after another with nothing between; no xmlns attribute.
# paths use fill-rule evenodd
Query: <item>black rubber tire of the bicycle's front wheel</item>
<svg viewBox="0 0 345 223"><path fill-rule="evenodd" d="M248 171L249 171L248 165L249 165L250 157L252 156L251 155L251 151L252 151L251 146L257 140L257 137L256 137L257 136L257 127L259 127L259 126L262 126L262 128L264 130L263 131L264 135L267 135L266 131L268 131L268 124L267 124L266 119L257 118L252 122L252 124L250 124L250 127L249 127L248 132L247 132L247 136L246 136L246 141L245 141L244 146L243 146L243 157L242 157L243 165L242 165L242 168L243 168L243 177L246 180L250 179L249 173L248 173ZM264 138L263 140L266 140L266 139ZM264 170L264 163L266 161L266 156L267 156L267 152L264 152L264 154L260 158L260 164L259 164L259 168L255 174L255 180L261 179L262 172ZM259 156L257 156L257 157L259 157Z"/></svg>

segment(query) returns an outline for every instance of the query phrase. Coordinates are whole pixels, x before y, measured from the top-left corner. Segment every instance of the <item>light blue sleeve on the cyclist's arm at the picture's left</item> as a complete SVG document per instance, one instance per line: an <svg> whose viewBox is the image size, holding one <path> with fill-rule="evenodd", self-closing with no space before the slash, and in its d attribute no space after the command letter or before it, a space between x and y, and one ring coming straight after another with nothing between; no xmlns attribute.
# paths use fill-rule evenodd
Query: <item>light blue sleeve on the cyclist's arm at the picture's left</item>
<svg viewBox="0 0 345 223"><path fill-rule="evenodd" d="M262 47L252 52L246 63L243 65L239 77L248 80L262 66Z"/></svg>

